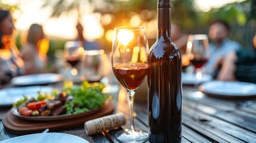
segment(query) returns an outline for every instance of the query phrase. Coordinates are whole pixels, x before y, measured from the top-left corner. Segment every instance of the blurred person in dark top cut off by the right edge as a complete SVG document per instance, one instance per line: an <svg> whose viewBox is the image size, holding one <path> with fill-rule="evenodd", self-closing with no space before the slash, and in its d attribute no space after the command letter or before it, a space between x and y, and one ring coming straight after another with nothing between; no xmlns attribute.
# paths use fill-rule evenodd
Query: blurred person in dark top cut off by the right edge
<svg viewBox="0 0 256 143"><path fill-rule="evenodd" d="M256 32L252 39L253 49L240 49L224 58L218 74L219 80L240 80L256 83Z"/></svg>

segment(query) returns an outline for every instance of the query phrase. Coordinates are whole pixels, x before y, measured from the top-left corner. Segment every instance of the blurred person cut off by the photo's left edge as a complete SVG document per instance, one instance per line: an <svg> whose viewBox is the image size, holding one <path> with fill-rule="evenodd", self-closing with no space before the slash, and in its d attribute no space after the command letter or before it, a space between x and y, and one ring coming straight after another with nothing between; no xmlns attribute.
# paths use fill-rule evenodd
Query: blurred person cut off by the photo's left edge
<svg viewBox="0 0 256 143"><path fill-rule="evenodd" d="M9 11L0 10L0 83L8 83L12 77L24 73L20 52L11 39L14 24Z"/></svg>

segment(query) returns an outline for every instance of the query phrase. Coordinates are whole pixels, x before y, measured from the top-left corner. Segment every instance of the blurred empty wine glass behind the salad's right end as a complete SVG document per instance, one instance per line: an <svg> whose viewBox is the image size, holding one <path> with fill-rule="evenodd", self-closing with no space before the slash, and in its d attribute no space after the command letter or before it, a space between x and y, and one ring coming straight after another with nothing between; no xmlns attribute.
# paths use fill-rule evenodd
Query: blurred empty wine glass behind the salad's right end
<svg viewBox="0 0 256 143"><path fill-rule="evenodd" d="M81 64L81 80L100 82L104 74L104 50L90 50L84 52Z"/></svg>

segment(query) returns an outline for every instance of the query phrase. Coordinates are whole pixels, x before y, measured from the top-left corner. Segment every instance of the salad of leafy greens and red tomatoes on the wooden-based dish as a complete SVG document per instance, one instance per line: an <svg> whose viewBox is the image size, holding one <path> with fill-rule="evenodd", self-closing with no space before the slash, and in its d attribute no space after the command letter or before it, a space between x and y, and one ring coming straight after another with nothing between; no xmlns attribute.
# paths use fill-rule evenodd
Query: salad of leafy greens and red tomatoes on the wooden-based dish
<svg viewBox="0 0 256 143"><path fill-rule="evenodd" d="M37 98L23 99L14 104L23 116L55 116L60 114L78 114L103 107L109 95L103 92L103 83L83 82L73 86L64 82L63 90L51 94L38 92Z"/></svg>

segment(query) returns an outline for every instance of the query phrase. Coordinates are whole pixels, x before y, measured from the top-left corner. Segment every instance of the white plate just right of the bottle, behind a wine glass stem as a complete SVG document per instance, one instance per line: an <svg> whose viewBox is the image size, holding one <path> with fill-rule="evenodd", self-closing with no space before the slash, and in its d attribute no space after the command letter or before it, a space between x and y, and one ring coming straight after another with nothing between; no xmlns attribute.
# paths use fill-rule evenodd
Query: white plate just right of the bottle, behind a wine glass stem
<svg viewBox="0 0 256 143"><path fill-rule="evenodd" d="M202 83L207 82L209 80L212 80L212 76L209 74L201 74L202 77L200 80L196 79L195 73L182 73L181 81L185 85L195 85L196 83Z"/></svg>

